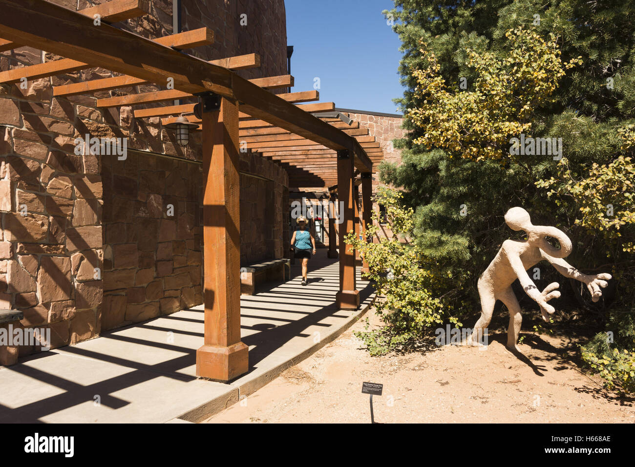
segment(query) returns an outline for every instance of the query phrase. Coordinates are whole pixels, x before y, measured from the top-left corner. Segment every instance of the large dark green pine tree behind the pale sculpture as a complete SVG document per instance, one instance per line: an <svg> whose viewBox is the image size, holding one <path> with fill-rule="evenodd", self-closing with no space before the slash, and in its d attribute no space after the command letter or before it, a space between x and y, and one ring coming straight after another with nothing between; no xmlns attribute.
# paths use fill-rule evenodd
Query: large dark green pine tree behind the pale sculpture
<svg viewBox="0 0 635 467"><path fill-rule="evenodd" d="M632 146L624 146L620 129L635 123L634 3L395 0L395 6L385 14L398 20L394 30L403 43L399 73L406 90L396 102L404 112L425 107L417 97L412 73L429 65L429 58L419 52L422 42L434 53L446 83L458 90L466 82L467 89L473 90L478 76L468 65L467 51L504 58L509 54L505 32L531 27L545 39L550 34L558 37L563 61L582 57L582 64L561 79L552 101L532 112L531 136L562 138L563 158L573 177L588 177L593 163L610 165L618 157L632 156ZM443 147L427 149L417 144L425 132L413 119L404 119L404 128L410 130L408 136L396 142L403 149L402 163L382 165L381 177L401 187L405 203L415 208L413 233L426 257L443 274L455 278L454 290L439 290L439 294L477 299L476 278L502 241L512 237L504 213L512 206L524 206L535 223L568 231L574 242L573 264L589 270L618 264L622 274L613 297L632 306L632 253L622 252L619 241L603 247L594 238L601 233L575 224L581 215L580 203L566 194L566 180L558 179L558 161L551 156L527 156L501 166L495 160L457 158ZM551 177L556 189L549 194L539 180ZM632 241L634 226L622 226L622 238Z"/></svg>

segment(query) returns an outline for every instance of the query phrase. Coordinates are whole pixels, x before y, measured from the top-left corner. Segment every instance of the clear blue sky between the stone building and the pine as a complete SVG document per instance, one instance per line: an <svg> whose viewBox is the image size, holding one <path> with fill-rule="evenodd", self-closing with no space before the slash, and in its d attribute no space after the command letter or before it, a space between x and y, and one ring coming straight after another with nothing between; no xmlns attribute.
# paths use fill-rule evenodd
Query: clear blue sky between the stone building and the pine
<svg viewBox="0 0 635 467"><path fill-rule="evenodd" d="M293 46L292 91L313 89L336 107L399 113L399 37L386 24L391 0L285 0L287 43Z"/></svg>

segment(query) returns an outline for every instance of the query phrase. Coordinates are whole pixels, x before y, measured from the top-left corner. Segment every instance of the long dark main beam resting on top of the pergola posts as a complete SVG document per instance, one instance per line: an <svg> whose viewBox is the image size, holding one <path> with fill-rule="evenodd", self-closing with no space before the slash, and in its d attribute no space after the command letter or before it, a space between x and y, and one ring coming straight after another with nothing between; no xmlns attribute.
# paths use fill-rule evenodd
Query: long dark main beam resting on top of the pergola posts
<svg viewBox="0 0 635 467"><path fill-rule="evenodd" d="M359 170L372 164L351 136L223 67L153 43L45 0L0 0L0 37L152 82L173 78L176 90L212 92L241 110L330 149L348 149ZM51 27L51 24L55 27Z"/></svg>

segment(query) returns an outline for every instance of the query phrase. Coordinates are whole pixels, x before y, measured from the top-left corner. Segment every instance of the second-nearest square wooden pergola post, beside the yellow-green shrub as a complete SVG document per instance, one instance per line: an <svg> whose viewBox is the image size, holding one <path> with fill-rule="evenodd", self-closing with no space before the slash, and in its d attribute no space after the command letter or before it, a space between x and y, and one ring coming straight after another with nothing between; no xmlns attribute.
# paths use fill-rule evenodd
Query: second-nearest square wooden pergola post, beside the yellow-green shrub
<svg viewBox="0 0 635 467"><path fill-rule="evenodd" d="M355 231L354 218L354 179L353 156L351 152L337 151L337 195L344 203L344 210L340 217L344 222L340 224L340 291L335 295L335 301L340 309L357 309L359 307L359 290L356 287L355 250L344 241L344 236Z"/></svg>

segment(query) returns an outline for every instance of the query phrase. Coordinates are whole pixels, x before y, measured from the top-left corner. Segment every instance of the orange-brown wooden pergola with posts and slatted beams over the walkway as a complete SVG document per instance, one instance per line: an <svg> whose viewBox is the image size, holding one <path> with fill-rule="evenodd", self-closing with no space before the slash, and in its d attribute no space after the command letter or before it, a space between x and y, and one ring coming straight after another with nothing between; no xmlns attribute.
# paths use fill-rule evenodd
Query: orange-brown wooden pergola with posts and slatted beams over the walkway
<svg viewBox="0 0 635 467"><path fill-rule="evenodd" d="M109 24L135 12L143 14L143 4L113 0L76 12L45 0L0 0L1 51L27 45L64 57L3 72L0 81L17 83L22 78L101 67L123 76L58 86L55 95L88 94L140 83L166 87L170 83L173 88L101 99L98 106L181 98L190 101L137 111L135 117L167 116L163 123L168 124L175 119L170 116L189 113L187 118L199 124L202 132L204 344L197 350L196 366L198 376L229 381L248 370L248 348L241 342L240 329L241 145L283 165L290 175L290 186L337 184L343 222L338 228L340 287L336 305L342 309L359 306L355 252L344 243L346 233L359 231L359 222L355 225L359 219L355 179L359 173L364 221L370 222L372 163L381 158L381 149L359 125L311 113L331 111L333 103L294 104L317 100L316 91L275 95L267 90L292 85L291 77L249 81L232 71L257 61L253 54L206 62L180 50L205 43L205 28L150 40ZM101 15L100 24L93 13ZM194 115L197 102L200 111ZM332 215L330 221L334 225Z"/></svg>

